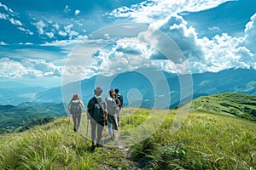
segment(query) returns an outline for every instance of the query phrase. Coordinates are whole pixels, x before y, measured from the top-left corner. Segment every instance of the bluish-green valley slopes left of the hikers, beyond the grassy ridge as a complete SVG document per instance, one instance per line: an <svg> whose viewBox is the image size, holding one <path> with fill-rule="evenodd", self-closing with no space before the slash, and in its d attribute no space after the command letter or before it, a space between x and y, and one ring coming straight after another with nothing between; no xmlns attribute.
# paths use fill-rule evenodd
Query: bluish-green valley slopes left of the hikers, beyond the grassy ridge
<svg viewBox="0 0 256 170"><path fill-rule="evenodd" d="M23 132L35 125L51 122L53 117L65 116L63 104L32 103L0 105L0 134Z"/></svg>

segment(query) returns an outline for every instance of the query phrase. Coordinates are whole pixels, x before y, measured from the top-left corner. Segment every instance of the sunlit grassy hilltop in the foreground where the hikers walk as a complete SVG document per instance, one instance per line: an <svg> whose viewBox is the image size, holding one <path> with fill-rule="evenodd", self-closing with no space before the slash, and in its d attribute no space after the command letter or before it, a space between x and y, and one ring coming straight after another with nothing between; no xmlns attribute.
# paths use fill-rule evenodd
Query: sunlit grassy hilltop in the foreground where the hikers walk
<svg viewBox="0 0 256 170"><path fill-rule="evenodd" d="M150 110L127 108L120 128L136 127ZM132 116L127 116L129 114ZM253 169L256 168L256 123L234 116L191 111L175 134L170 128L176 110L151 137L127 148L106 146L90 152L85 144L86 119L79 133L67 117L23 133L0 135L0 169ZM83 134L83 135L82 135ZM104 139L108 141L107 129Z"/></svg>

